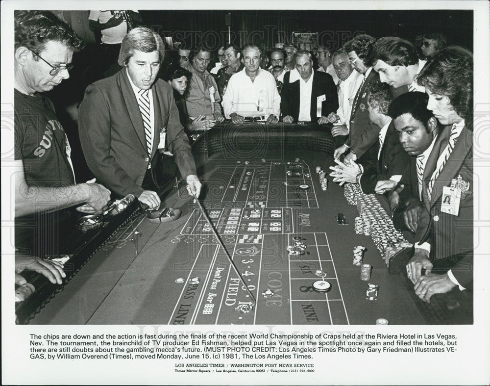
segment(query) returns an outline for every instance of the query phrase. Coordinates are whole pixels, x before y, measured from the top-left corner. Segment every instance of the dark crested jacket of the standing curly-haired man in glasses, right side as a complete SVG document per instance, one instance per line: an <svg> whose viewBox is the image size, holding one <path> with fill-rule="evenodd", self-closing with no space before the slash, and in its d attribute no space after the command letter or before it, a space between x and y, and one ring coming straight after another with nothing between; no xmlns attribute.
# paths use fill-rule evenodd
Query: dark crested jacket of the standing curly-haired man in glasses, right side
<svg viewBox="0 0 490 386"><path fill-rule="evenodd" d="M376 152L379 149L371 149L371 147L378 142L378 135L381 128L372 124L369 120L367 95L368 85L376 79L379 79L378 73L371 70L364 81L364 84L357 91L352 105L350 131L345 144L354 151L358 160L368 152L368 150L372 154L377 154ZM372 154L370 155L370 158L372 158Z"/></svg>

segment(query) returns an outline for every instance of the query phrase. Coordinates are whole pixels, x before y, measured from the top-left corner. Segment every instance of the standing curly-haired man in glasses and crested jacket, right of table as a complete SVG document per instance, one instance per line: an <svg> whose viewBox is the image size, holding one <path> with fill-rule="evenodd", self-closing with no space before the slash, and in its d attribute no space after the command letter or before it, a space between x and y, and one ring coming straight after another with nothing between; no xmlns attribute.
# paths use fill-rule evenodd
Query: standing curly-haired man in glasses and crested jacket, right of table
<svg viewBox="0 0 490 386"><path fill-rule="evenodd" d="M376 142L381 128L372 125L369 120L367 106L367 87L369 83L379 79L378 74L370 67L370 51L375 39L369 35L358 35L354 39L345 43L343 49L349 56L350 63L354 69L364 75L364 80L354 97L352 112L350 114L349 136L344 144L334 152L334 158L338 159L347 150L347 161L352 159L376 159ZM374 145L374 146L373 146Z"/></svg>

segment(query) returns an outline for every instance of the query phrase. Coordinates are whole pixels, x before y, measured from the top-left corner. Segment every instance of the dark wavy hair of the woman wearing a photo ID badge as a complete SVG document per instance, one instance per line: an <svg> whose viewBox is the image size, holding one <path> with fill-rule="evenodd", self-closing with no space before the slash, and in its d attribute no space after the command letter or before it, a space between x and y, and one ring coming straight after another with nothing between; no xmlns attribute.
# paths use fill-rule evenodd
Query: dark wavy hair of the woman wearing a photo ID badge
<svg viewBox="0 0 490 386"><path fill-rule="evenodd" d="M458 115L467 120L473 109L473 54L456 46L437 52L420 71L417 83L448 97Z"/></svg>

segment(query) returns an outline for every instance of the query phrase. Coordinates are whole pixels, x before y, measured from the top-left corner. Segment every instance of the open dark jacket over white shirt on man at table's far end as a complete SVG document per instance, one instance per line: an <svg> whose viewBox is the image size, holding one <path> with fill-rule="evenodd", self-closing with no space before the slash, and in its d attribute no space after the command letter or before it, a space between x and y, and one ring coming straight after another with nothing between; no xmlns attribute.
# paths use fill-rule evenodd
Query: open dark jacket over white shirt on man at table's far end
<svg viewBox="0 0 490 386"><path fill-rule="evenodd" d="M291 71L284 74L284 84L281 90L281 114L283 117L290 115L294 122L298 121L300 103L300 85L302 79L290 83ZM321 103L321 115L327 117L331 112L339 108L337 87L332 76L320 71L313 71L313 84L311 88L310 119L317 122L317 97L325 95L325 101Z"/></svg>

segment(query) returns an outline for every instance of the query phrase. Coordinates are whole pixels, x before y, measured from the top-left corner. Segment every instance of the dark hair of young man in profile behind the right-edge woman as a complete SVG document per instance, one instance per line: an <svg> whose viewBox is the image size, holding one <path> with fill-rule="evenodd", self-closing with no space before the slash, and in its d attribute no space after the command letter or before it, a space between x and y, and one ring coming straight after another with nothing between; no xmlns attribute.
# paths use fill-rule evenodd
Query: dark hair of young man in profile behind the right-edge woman
<svg viewBox="0 0 490 386"><path fill-rule="evenodd" d="M389 66L410 66L418 63L415 46L408 40L387 36L374 43L371 53L371 66L382 60Z"/></svg>

